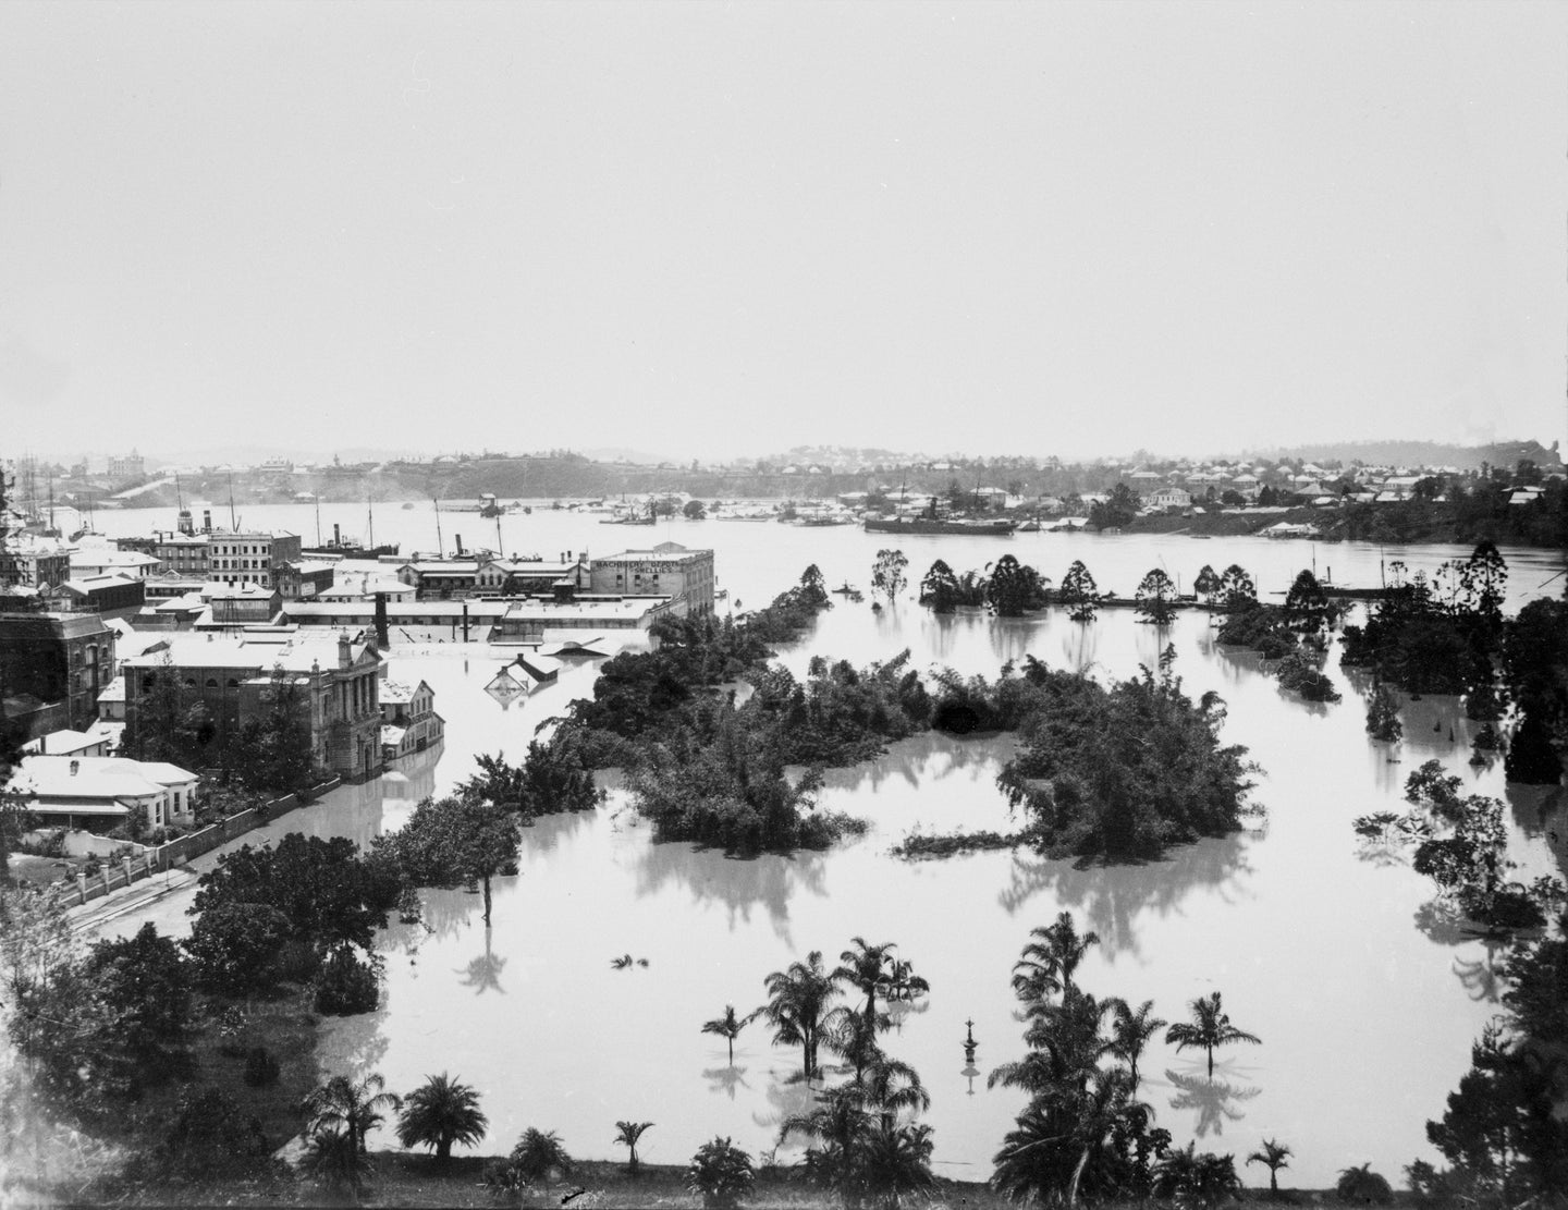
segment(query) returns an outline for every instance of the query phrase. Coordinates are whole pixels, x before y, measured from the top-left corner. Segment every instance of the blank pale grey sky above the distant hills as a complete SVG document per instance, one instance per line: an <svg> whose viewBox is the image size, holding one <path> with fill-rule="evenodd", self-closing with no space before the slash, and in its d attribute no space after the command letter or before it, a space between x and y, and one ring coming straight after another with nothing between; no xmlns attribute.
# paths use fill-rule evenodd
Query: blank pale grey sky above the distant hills
<svg viewBox="0 0 1568 1210"><path fill-rule="evenodd" d="M0 458L1538 439L1568 3L0 5Z"/></svg>

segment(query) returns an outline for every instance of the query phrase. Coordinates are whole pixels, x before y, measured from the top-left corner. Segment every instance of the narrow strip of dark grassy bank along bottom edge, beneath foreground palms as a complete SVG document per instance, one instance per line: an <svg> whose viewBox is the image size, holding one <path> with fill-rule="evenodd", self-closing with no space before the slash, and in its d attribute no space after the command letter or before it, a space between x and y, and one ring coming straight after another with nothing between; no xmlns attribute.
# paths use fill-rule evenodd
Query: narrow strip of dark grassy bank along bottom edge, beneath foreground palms
<svg viewBox="0 0 1568 1210"><path fill-rule="evenodd" d="M375 1207L488 1207L505 1205L491 1197L485 1186L485 1165L491 1158L466 1155L453 1158L444 1169L428 1155L409 1152L373 1152L373 1182L361 1193L359 1205ZM102 1205L108 1197L94 1201L72 1196L75 1205ZM332 1194L321 1185L304 1177L292 1177L278 1171L271 1179L249 1180L191 1180L179 1185L116 1188L116 1205L353 1205L347 1194ZM942 1207L967 1207L969 1210L1011 1210L1010 1202L988 1185L977 1180L938 1179L936 1190L928 1196L908 1196L906 1204L941 1210ZM1333 1190L1281 1190L1278 1199L1269 1190L1243 1190L1243 1202L1272 1205L1352 1205L1334 1196ZM1396 1202L1408 1204L1408 1194L1396 1194ZM1157 1204L1157 1202L1156 1202ZM691 1207L702 1205L699 1194L685 1186L685 1168L677 1165L643 1165L638 1176L630 1176L624 1163L585 1161L569 1177L541 1185L524 1193L519 1207ZM801 1183L793 1169L781 1168L757 1176L756 1191L742 1202L754 1210L837 1210L839 1199L823 1190ZM1134 1202L1098 1202L1102 1210L1116 1210ZM1137 1202L1137 1205L1148 1205ZM1359 1205L1359 1204L1358 1204Z"/></svg>

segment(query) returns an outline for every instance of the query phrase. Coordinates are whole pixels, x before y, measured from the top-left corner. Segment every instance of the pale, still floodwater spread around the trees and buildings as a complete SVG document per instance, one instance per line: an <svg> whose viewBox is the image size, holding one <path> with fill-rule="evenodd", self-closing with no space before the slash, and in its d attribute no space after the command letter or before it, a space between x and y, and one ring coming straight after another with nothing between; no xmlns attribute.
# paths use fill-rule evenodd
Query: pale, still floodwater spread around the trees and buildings
<svg viewBox="0 0 1568 1210"><path fill-rule="evenodd" d="M348 528L350 511L339 519ZM378 509L376 538L433 545L423 517ZM287 527L314 536L309 508L248 508L249 525ZM408 533L397 531L398 520ZM116 533L165 528L157 511L100 514ZM477 517L469 544L483 541ZM358 522L356 522L358 523ZM806 563L829 585L862 589L887 536L850 528L801 530L739 522L671 522L612 530L593 517L536 511L508 517L508 550L588 549L682 541L717 550L731 603L764 603ZM444 514L447 534L453 520ZM309 528L307 528L309 527ZM516 538L511 531L516 530ZM1284 591L1303 566L1306 544L1261 539L1094 538L1019 534L999 539L905 539L911 578L931 558L955 571L980 567L1004 552L1060 577L1083 558L1102 588L1131 591L1151 566L1190 583L1203 563L1242 563L1264 594ZM1428 571L1457 549L1319 545L1319 574L1375 585L1380 564L1403 560ZM1510 608L1551 577L1549 552L1505 552ZM1548 586L1544 591L1552 591ZM381 937L386 994L378 1013L334 1019L323 1028L325 1074L378 1071L389 1088L412 1089L425 1075L450 1072L475 1085L491 1118L486 1150L500 1150L528 1125L560 1132L580 1157L621 1154L618 1119L652 1121L640 1154L682 1163L715 1133L765 1150L778 1122L804 1105L793 1077L800 1053L771 1047L753 1023L735 1047L701 1033L734 1003L762 1003L764 976L822 950L831 967L851 937L897 942L931 983L886 1047L914 1064L931 1092L936 1165L947 1176L985 1179L1021 1108L1021 1096L986 1089L985 1072L1022 1055L1008 975L1029 929L1071 911L1094 929L1079 981L1098 995L1156 1002L1167 1019L1209 991L1225 994L1237 1027L1262 1038L1217 1056L1151 1044L1140 1061L1143 1096L1178 1146L1232 1152L1237 1163L1264 1138L1294 1149L1290 1177L1323 1186L1348 1165L1370 1161L1396 1183L1413 1158L1436 1158L1424 1124L1468 1069L1469 1045L1497 1013L1494 967L1501 953L1455 936L1428 914L1433 886L1408 864L1375 859L1350 829L1356 815L1400 809L1405 776L1427 759L1460 774L1469 792L1505 798L1510 854L1519 875L1557 873L1565 829L1562 792L1505 787L1501 766L1466 760L1474 724L1454 699L1406 704L1406 738L1375 744L1363 730L1355 687L1330 665L1345 693L1338 705L1308 705L1256 671L1256 660L1212 643L1207 618L1182 614L1163 633L1131 613L1105 613L1090 627L1047 613L997 621L982 613L933 618L913 602L875 613L870 602L839 605L815 632L782 650L803 669L814 654L856 663L908 647L913 666L953 666L994 676L1007 660L1033 655L1052 666L1127 677L1174 643L1176 671L1198 697L1217 690L1228 702L1225 737L1261 765L1253 798L1265 812L1245 832L1173 851L1146 865L1077 868L1025 853L977 853L935 862L891 857L911 829L1010 826L996 774L1011 740L924 735L883 759L829 771L822 806L870 821L872 831L826 853L734 860L691 845L654 845L607 777L597 812L541 820L524 832L516 878L495 886L494 923L480 918L478 895L425 892L420 925L394 923ZM314 831L365 843L395 828L414 801L445 793L474 770L477 752L521 759L535 727L591 691L591 663L574 665L555 685L503 710L483 685L510 658L502 649L437 644L394 647L392 674L425 679L447 719L439 759L420 759L361 787L345 787L267 832ZM1449 735L1452 734L1452 740ZM263 834L252 834L256 840ZM198 864L210 864L212 857ZM146 918L182 929L188 895L171 897L113 925L122 933ZM646 959L615 970L621 955ZM966 1020L978 1039L978 1075L963 1064ZM1261 1168L1243 1169L1259 1183Z"/></svg>

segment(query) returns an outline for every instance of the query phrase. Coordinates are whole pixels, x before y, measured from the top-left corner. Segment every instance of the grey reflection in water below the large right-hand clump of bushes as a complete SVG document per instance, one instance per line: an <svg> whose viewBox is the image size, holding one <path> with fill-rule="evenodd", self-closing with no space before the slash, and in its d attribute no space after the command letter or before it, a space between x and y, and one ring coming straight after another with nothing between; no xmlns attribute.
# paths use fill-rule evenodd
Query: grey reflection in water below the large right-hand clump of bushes
<svg viewBox="0 0 1568 1210"><path fill-rule="evenodd" d="M1008 884L997 893L997 903L1008 915L1024 911L1033 900L1082 912L1087 928L1099 934L1105 955L1137 955L1138 926L1146 923L1146 914L1170 915L1196 889L1231 904L1245 898L1242 879L1251 873L1247 846L1253 840L1251 832L1232 832L1220 840L1182 845L1163 860L1138 865L1052 860L1014 850Z"/></svg>

